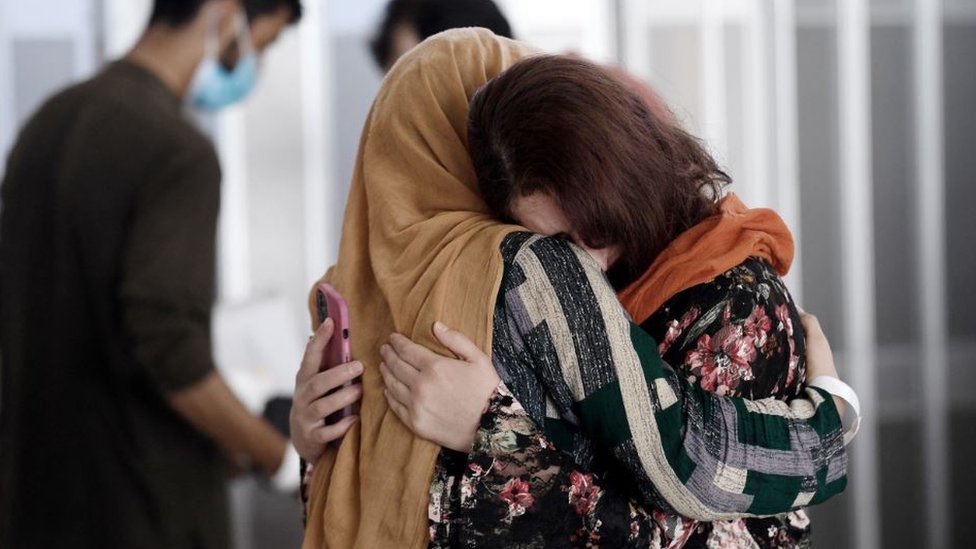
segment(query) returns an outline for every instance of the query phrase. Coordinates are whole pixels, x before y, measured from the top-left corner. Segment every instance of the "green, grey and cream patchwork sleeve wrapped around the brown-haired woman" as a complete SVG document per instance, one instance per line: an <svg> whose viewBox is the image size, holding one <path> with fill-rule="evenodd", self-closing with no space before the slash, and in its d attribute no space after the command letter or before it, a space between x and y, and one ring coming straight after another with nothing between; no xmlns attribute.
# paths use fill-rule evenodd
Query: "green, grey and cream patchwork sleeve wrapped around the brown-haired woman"
<svg viewBox="0 0 976 549"><path fill-rule="evenodd" d="M719 520L780 513L843 490L841 423L825 392L807 389L790 404L708 393L660 359L585 252L536 239L512 268L522 283L505 295L509 326L524 343L543 335L556 342L525 344L555 421L608 450L643 503Z"/></svg>

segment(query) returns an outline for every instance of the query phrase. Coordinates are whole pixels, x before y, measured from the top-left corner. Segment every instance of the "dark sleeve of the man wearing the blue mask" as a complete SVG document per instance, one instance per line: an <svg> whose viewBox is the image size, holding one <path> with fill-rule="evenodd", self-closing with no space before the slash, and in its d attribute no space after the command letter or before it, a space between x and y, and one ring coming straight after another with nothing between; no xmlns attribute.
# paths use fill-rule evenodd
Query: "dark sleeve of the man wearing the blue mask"
<svg viewBox="0 0 976 549"><path fill-rule="evenodd" d="M173 159L138 190L125 245L121 314L136 363L164 392L213 368L220 167L211 148Z"/></svg>

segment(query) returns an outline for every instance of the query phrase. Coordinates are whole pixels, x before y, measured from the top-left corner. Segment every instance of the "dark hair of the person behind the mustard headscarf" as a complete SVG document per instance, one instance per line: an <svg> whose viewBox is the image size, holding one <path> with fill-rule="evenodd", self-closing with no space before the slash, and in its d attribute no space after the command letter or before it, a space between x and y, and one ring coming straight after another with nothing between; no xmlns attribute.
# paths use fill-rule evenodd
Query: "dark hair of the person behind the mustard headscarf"
<svg viewBox="0 0 976 549"><path fill-rule="evenodd" d="M498 36L512 37L508 20L492 0L391 0L369 44L380 68L389 64L393 30L401 23L416 29L421 40L463 27L484 27Z"/></svg>

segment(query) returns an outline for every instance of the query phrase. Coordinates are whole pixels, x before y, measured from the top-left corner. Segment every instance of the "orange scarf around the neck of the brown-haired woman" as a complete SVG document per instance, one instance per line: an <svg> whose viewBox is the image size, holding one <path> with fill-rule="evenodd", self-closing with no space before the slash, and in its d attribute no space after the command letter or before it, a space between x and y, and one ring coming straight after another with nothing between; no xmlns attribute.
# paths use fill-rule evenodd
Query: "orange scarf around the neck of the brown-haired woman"
<svg viewBox="0 0 976 549"><path fill-rule="evenodd" d="M765 259L780 276L793 263L793 235L767 208L749 209L734 193L721 212L681 233L650 268L618 294L635 322L647 320L675 294L703 284L749 257Z"/></svg>

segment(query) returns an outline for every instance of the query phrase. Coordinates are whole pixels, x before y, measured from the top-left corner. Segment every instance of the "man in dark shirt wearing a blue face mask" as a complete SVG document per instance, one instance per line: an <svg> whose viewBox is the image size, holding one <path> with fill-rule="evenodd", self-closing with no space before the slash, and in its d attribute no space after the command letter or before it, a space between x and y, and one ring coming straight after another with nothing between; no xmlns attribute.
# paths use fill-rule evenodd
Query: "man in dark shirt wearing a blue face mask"
<svg viewBox="0 0 976 549"><path fill-rule="evenodd" d="M0 547L225 548L228 464L282 468L287 440L214 369L221 175L183 107L243 99L301 13L155 0L123 60L20 133L0 214Z"/></svg>

